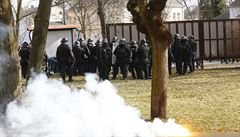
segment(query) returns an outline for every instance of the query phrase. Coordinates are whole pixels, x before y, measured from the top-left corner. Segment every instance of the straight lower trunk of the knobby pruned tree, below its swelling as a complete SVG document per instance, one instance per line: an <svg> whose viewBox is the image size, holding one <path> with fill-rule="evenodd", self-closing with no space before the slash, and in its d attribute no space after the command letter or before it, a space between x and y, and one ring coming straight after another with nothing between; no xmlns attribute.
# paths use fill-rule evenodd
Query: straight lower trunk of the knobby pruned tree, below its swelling
<svg viewBox="0 0 240 137"><path fill-rule="evenodd" d="M150 36L152 42L152 92L151 119L167 118L167 44L156 36Z"/></svg>

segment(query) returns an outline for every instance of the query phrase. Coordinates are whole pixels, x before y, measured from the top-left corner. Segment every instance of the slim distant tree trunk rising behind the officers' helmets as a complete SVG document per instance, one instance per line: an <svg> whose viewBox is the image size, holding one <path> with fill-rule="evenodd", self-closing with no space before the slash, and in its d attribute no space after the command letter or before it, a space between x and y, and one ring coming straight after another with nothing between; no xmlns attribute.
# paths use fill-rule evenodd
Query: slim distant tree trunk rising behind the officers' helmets
<svg viewBox="0 0 240 137"><path fill-rule="evenodd" d="M105 21L105 10L102 0L98 0L98 16L101 24L102 37L106 38L106 21Z"/></svg>

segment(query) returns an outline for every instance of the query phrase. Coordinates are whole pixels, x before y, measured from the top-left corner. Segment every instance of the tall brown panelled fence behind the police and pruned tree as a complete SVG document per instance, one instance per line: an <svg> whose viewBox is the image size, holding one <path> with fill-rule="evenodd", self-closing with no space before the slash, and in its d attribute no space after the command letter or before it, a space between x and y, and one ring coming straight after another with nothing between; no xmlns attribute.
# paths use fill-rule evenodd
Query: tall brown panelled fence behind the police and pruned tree
<svg viewBox="0 0 240 137"><path fill-rule="evenodd" d="M202 60L240 58L240 20L166 22L172 34L193 35L198 43L197 57ZM127 41L146 38L133 23L107 24L107 38L124 37Z"/></svg>

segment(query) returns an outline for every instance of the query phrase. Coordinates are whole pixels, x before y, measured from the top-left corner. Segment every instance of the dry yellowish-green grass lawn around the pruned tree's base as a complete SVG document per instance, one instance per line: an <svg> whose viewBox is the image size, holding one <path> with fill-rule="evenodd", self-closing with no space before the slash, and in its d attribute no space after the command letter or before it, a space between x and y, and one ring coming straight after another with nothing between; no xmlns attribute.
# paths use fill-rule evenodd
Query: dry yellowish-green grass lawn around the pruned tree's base
<svg viewBox="0 0 240 137"><path fill-rule="evenodd" d="M82 87L82 78L70 85ZM151 80L113 80L127 104L150 118ZM240 68L197 70L168 84L168 117L191 132L240 132Z"/></svg>

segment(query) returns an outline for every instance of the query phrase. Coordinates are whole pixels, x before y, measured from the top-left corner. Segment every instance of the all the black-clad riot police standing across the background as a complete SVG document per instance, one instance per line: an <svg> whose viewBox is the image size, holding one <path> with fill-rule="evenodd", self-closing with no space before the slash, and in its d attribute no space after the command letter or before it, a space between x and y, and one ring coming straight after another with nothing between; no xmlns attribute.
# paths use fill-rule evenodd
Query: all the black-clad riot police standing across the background
<svg viewBox="0 0 240 137"><path fill-rule="evenodd" d="M172 74L174 62L177 74L186 74L188 67L190 72L193 72L197 51L197 43L193 36L189 36L187 40L186 36L180 38L179 34L175 34L173 38L173 43L168 49L169 74ZM151 78L151 46L145 39L141 39L139 43L134 40L127 43L126 39L118 39L115 36L111 42L104 38L94 43L92 39L85 41L80 38L72 48L67 42L67 38L62 38L56 51L57 65L63 81L66 81L66 75L69 76L69 81L73 81L73 75L84 76L85 73L97 72L100 80L105 80L109 79L111 70L112 79L116 79L119 68L125 80L128 78L128 72L132 73L133 79ZM26 78L29 55L30 46L24 42L19 51L24 78ZM47 63L47 59L45 61Z"/></svg>

